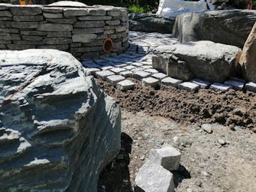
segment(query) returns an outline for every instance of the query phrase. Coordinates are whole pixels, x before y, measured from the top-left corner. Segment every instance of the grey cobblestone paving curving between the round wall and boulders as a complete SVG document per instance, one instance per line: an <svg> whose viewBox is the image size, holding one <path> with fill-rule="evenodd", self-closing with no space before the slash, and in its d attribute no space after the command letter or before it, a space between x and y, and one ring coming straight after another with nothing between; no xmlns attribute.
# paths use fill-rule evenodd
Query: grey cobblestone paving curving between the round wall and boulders
<svg viewBox="0 0 256 192"><path fill-rule="evenodd" d="M244 80L237 78L231 78L223 84L212 83L211 85L209 82L198 79L183 83L182 80L166 77L161 71L152 68L152 52L155 47L179 43L172 34L130 31L129 40L128 49L120 55L82 61L86 68L86 74L106 80L117 89L122 90L134 88L131 78L129 81L126 80L128 77L133 77L141 80L143 86L158 87L164 84L188 92L196 92L198 89L213 89L216 92L227 92L229 89L247 89L256 92L256 83L245 83Z"/></svg>

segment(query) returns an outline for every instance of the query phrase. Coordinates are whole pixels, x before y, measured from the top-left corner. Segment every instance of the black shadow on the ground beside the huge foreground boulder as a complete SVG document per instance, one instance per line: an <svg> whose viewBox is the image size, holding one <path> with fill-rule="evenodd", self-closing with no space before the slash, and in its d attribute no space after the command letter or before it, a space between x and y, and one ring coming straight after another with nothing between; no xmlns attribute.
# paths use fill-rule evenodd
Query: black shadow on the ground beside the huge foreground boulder
<svg viewBox="0 0 256 192"><path fill-rule="evenodd" d="M132 191L128 169L132 142L128 134L121 134L121 150L118 157L102 170L98 179L98 192Z"/></svg>

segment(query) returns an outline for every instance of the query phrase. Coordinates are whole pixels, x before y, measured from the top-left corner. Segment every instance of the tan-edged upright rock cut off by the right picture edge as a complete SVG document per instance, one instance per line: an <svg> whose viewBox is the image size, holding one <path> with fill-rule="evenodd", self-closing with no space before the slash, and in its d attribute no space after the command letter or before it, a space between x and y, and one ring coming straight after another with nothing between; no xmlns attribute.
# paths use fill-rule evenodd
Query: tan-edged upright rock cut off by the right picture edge
<svg viewBox="0 0 256 192"><path fill-rule="evenodd" d="M256 83L256 23L243 46L239 64L242 65L245 79Z"/></svg>

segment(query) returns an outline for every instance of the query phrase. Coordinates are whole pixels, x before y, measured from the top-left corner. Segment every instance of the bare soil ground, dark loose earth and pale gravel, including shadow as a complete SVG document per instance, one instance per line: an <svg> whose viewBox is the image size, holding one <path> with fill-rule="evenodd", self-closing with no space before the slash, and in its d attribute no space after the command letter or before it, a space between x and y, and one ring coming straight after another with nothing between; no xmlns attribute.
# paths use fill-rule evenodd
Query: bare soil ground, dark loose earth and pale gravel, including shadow
<svg viewBox="0 0 256 192"><path fill-rule="evenodd" d="M173 172L176 192L256 191L254 93L155 90L133 81L135 89L122 92L98 80L122 109L122 148L101 172L99 192L134 191L150 149L165 144L182 152L179 170ZM203 123L211 124L212 133L200 127Z"/></svg>

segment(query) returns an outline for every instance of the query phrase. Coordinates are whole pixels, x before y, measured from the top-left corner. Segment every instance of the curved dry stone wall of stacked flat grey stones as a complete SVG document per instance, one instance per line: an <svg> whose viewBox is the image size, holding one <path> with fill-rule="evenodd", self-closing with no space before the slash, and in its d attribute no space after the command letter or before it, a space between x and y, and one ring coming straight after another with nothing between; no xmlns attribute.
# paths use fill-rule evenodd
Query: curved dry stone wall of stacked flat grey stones
<svg viewBox="0 0 256 192"><path fill-rule="evenodd" d="M0 4L0 49L60 49L80 59L128 47L128 13L112 6L58 7Z"/></svg>

